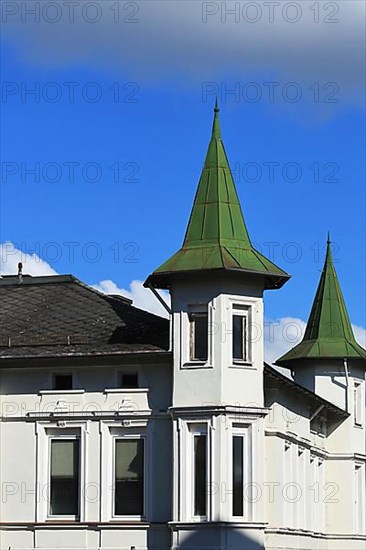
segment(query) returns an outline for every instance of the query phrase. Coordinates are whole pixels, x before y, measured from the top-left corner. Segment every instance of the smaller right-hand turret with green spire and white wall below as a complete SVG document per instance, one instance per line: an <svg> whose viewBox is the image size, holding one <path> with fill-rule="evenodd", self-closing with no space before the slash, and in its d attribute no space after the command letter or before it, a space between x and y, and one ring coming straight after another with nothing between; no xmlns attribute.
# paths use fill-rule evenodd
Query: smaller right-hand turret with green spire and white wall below
<svg viewBox="0 0 366 550"><path fill-rule="evenodd" d="M291 369L296 382L346 410L350 414L347 426L364 428L366 351L353 334L329 235L304 337L276 363ZM358 451L364 452L364 435L360 429L356 432Z"/></svg>

